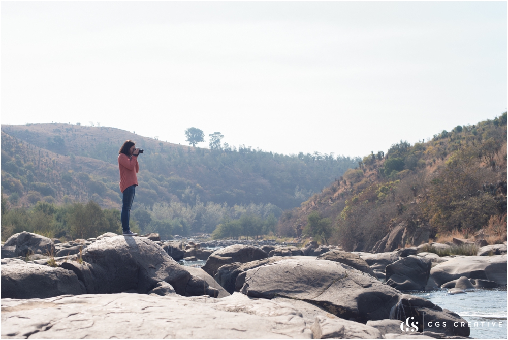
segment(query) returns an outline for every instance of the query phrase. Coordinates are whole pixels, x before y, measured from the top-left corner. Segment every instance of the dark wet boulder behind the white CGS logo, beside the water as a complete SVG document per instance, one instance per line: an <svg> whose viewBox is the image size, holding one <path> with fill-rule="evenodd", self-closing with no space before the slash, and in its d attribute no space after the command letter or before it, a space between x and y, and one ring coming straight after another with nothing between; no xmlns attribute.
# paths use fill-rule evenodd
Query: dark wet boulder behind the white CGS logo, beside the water
<svg viewBox="0 0 508 340"><path fill-rule="evenodd" d="M429 300L414 295L401 294L399 301L390 311L390 319L404 322L407 320L408 326L414 323L418 332L425 331L426 334L435 332L446 336L469 336L467 321L458 314L443 310Z"/></svg>

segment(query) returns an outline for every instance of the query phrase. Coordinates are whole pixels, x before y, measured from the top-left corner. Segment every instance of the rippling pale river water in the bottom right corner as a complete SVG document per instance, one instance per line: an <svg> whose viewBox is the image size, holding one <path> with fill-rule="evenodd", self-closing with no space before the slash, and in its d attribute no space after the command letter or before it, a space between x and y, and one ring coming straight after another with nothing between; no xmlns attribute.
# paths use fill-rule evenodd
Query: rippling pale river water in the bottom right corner
<svg viewBox="0 0 508 340"><path fill-rule="evenodd" d="M443 309L457 313L470 323L473 338L506 338L506 286L495 289L474 289L467 294L448 291L407 292L432 301ZM501 322L501 327L499 327Z"/></svg>

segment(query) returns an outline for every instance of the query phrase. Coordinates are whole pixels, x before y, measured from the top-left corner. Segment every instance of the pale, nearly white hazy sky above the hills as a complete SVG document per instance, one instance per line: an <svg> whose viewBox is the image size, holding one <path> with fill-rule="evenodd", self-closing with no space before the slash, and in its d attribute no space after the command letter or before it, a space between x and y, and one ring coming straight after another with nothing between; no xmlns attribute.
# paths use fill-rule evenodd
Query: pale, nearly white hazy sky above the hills
<svg viewBox="0 0 508 340"><path fill-rule="evenodd" d="M2 2L2 124L366 156L506 111L506 2Z"/></svg>

